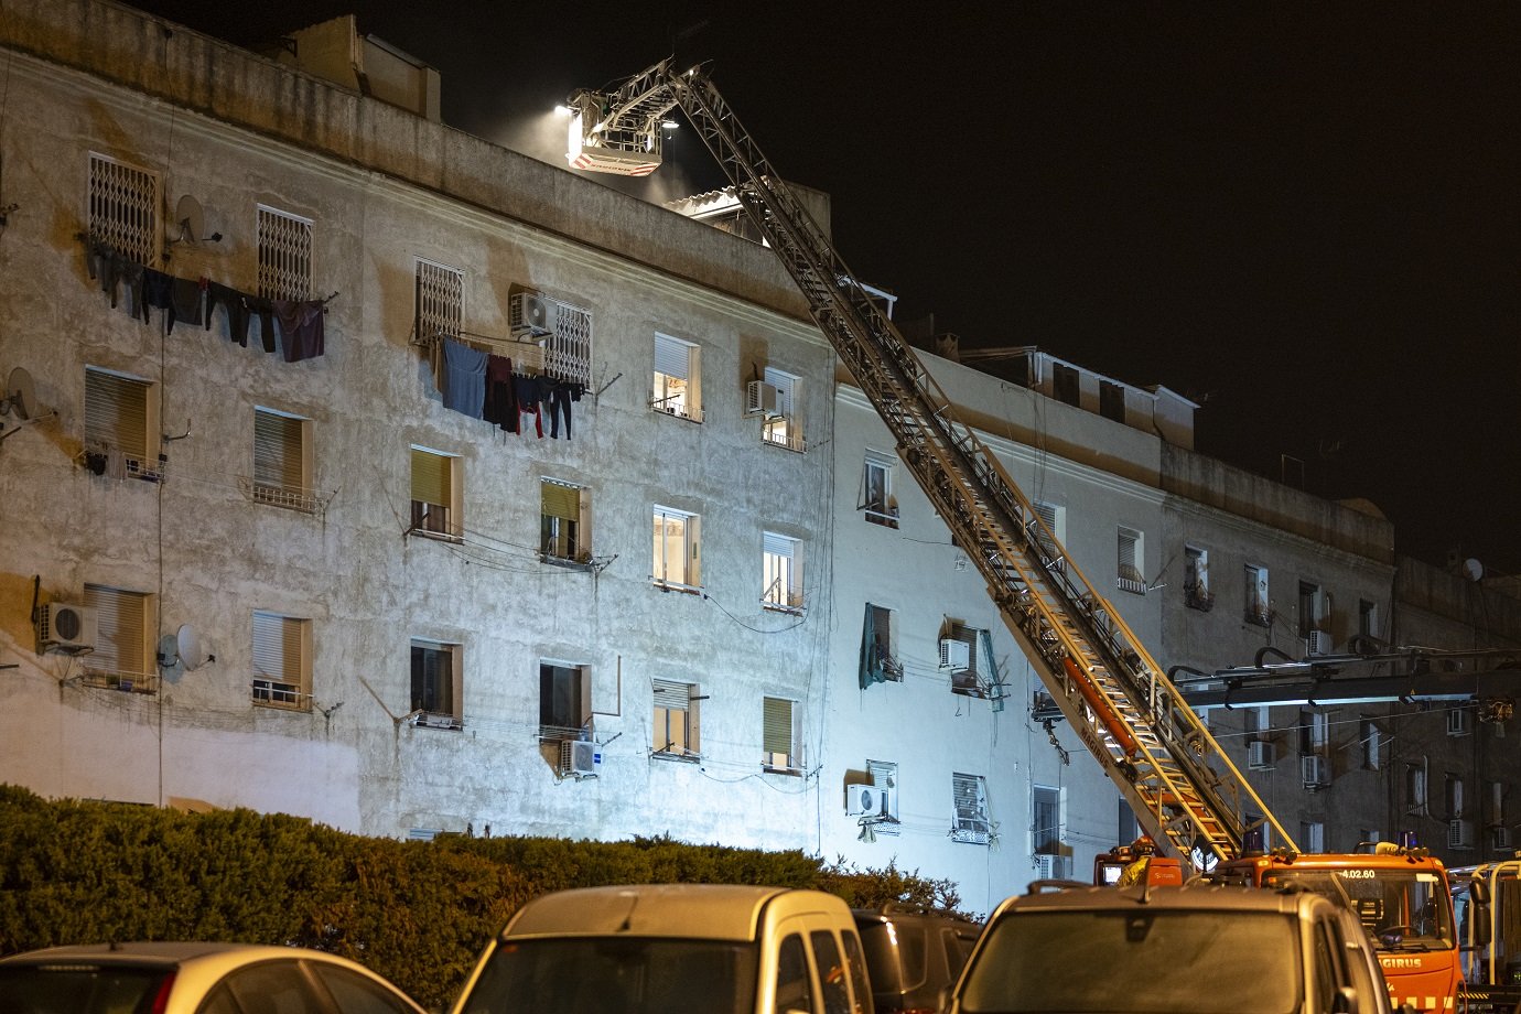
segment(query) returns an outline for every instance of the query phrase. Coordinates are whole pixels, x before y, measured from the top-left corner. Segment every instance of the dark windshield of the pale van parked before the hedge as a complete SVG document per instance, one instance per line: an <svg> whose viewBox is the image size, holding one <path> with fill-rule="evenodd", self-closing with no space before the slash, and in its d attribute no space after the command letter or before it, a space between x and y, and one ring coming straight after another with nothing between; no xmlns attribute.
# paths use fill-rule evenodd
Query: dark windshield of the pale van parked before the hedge
<svg viewBox="0 0 1521 1014"><path fill-rule="evenodd" d="M748 1014L751 944L712 940L569 936L500 943L464 1014Z"/></svg>

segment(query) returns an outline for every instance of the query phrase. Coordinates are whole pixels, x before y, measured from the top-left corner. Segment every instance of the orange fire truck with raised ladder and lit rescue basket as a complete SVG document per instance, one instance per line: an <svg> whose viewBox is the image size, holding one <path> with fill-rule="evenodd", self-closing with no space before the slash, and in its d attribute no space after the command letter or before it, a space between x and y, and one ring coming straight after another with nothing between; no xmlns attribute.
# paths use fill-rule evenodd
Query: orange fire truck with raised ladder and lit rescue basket
<svg viewBox="0 0 1521 1014"><path fill-rule="evenodd" d="M1457 952L1442 865L1415 853L1297 854L1287 830L1170 675L1083 576L998 456L958 418L707 71L678 70L668 58L605 91L578 90L567 105L569 164L625 176L643 176L660 166L666 117L680 108L893 433L910 474L978 567L1051 707L1071 724L1164 853L1157 874L1165 870L1170 880L1182 880L1188 870L1241 863L1235 868L1243 879L1250 874L1250 882L1267 886L1314 871L1308 886L1361 905L1364 924L1383 933L1386 973L1392 984L1401 982L1396 996L1413 997L1422 1011L1451 1011ZM1284 844L1287 851L1249 859L1247 842L1255 835ZM1122 871L1119 865L1115 877Z"/></svg>

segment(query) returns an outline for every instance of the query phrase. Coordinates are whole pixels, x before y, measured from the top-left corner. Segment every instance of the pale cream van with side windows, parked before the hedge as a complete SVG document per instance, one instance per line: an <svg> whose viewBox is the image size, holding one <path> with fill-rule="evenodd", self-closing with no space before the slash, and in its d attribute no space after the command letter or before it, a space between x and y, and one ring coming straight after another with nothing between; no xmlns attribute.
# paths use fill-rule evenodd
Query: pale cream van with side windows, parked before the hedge
<svg viewBox="0 0 1521 1014"><path fill-rule="evenodd" d="M861 938L821 891L583 888L525 905L453 1014L872 1014Z"/></svg>

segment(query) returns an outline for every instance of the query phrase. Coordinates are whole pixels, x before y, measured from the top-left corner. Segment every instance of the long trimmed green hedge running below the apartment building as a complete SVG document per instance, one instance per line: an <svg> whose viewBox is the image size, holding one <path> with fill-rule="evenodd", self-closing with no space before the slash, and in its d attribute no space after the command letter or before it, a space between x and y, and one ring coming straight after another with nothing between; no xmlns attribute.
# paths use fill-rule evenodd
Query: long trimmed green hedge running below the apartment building
<svg viewBox="0 0 1521 1014"><path fill-rule="evenodd" d="M0 955L110 940L316 947L446 1008L491 933L549 891L608 883L817 888L948 908L949 882L802 851L558 838L402 842L252 810L46 801L0 784Z"/></svg>

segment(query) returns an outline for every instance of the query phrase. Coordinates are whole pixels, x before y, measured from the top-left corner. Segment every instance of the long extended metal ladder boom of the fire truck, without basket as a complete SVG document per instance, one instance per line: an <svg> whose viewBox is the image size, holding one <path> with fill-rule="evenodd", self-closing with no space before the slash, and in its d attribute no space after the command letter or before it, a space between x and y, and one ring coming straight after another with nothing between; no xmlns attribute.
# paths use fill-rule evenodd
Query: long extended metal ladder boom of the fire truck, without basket
<svg viewBox="0 0 1521 1014"><path fill-rule="evenodd" d="M627 93L627 94L625 94ZM1293 841L1220 749L1161 666L1066 558L1004 465L960 420L887 315L750 140L701 70L665 61L604 108L680 105L754 225L802 289L818 327L897 441L914 479L989 593L1062 715L1141 825L1185 860L1241 853L1244 810ZM602 134L634 122L604 122Z"/></svg>

